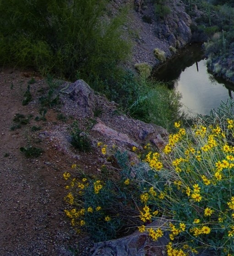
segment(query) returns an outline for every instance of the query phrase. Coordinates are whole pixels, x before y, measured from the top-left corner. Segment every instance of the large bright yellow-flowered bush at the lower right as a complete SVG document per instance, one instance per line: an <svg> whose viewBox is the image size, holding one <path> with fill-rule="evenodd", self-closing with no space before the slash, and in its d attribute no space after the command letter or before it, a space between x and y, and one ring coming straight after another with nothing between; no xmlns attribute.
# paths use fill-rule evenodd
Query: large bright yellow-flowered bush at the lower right
<svg viewBox="0 0 234 256"><path fill-rule="evenodd" d="M153 240L169 231L169 256L207 247L218 255L233 255L234 120L216 119L207 126L200 119L187 131L180 123L175 127L178 133L169 136L161 154L151 153L145 160L155 176L142 179L151 187L141 194L146 206L140 212L143 222L158 216L171 222L155 230L141 225L139 230L147 230Z"/></svg>

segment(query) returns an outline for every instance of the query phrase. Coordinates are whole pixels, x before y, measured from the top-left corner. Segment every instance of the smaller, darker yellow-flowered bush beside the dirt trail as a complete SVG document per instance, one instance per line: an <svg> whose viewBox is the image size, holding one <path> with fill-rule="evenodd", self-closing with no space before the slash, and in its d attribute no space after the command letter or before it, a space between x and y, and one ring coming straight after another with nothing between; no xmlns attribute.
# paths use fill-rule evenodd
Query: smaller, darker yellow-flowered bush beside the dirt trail
<svg viewBox="0 0 234 256"><path fill-rule="evenodd" d="M76 168L76 177L79 178L72 178L70 173L63 175L69 181L65 201L70 207L65 214L71 219L71 226L88 232L96 242L126 235L129 228L132 230L136 223L141 224L136 219L138 186L135 182L130 184L125 175L130 172L128 157L125 157L126 152L117 152L117 155L117 161L123 167L119 180L108 176L104 181L88 178L76 165L72 168ZM107 173L106 168L101 167L102 173ZM138 202L141 204L140 200Z"/></svg>

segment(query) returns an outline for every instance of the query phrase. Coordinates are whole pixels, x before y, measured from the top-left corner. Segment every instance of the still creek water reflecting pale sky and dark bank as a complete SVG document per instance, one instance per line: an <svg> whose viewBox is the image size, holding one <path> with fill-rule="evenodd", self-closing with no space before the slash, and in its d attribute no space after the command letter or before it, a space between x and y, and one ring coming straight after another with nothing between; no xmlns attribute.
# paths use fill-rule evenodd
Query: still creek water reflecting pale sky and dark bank
<svg viewBox="0 0 234 256"><path fill-rule="evenodd" d="M186 47L180 56L165 63L153 76L182 94L185 112L209 114L211 109L217 109L221 100L234 95L233 83L217 79L207 71L201 45Z"/></svg>

